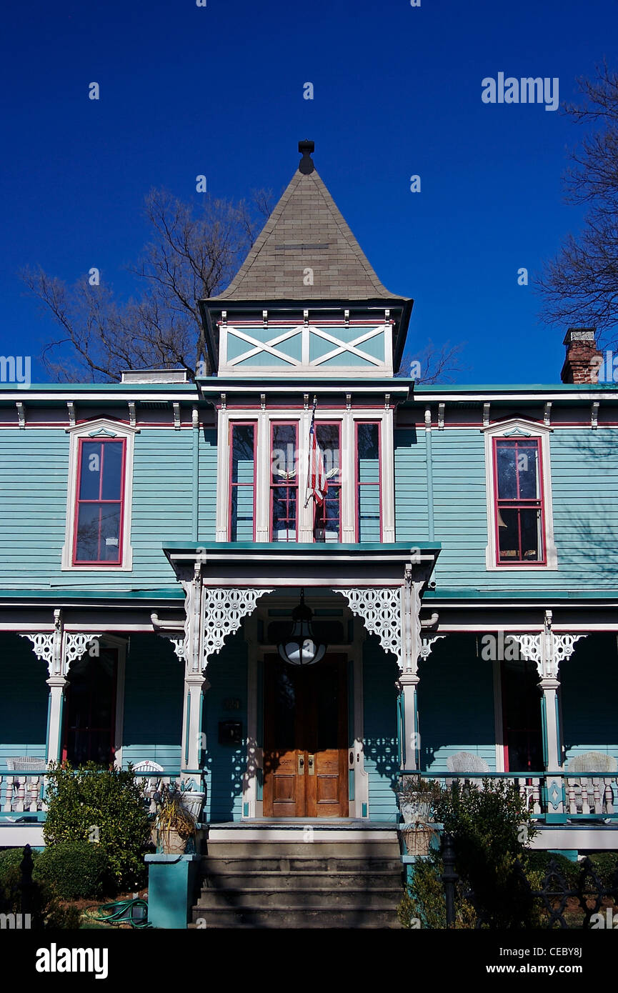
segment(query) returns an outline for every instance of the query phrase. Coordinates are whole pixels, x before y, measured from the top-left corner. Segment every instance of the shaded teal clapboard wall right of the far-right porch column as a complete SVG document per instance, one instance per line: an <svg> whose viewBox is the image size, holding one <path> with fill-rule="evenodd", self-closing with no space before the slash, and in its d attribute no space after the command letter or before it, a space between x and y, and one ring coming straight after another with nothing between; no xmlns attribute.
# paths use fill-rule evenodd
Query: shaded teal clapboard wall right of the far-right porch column
<svg viewBox="0 0 618 993"><path fill-rule="evenodd" d="M562 741L568 763L583 752L618 759L618 647L616 636L589 635L560 663Z"/></svg>

